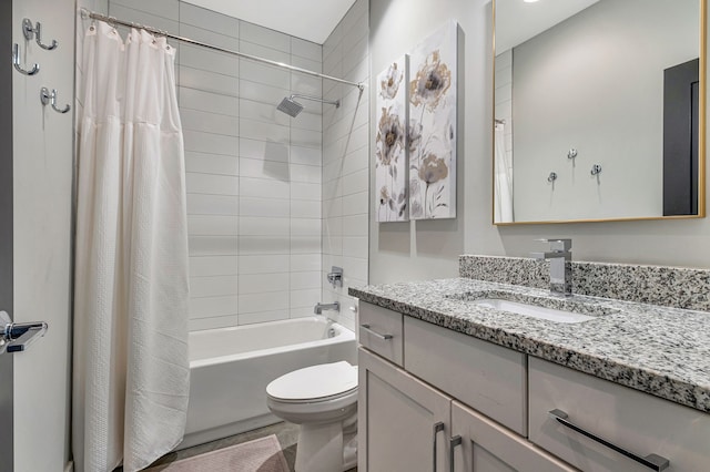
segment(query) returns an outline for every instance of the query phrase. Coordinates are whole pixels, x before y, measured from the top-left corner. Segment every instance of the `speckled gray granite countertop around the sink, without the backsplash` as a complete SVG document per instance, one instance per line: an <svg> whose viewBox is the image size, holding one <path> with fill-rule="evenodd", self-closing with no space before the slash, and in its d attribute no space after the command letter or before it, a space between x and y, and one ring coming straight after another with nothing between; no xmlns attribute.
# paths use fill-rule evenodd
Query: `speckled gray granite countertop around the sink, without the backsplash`
<svg viewBox="0 0 710 472"><path fill-rule="evenodd" d="M710 412L710 312L469 278L349 288L349 295L455 331ZM496 297L594 316L562 324L473 305Z"/></svg>

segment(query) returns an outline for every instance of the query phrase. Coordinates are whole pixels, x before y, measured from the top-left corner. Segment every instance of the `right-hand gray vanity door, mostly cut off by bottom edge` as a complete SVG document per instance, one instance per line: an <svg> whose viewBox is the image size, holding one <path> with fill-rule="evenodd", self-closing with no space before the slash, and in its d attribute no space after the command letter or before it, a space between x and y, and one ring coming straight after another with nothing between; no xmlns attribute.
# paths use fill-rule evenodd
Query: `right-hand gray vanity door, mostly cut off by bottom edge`
<svg viewBox="0 0 710 472"><path fill-rule="evenodd" d="M452 403L452 435L462 438L452 454L455 472L577 471L457 401Z"/></svg>

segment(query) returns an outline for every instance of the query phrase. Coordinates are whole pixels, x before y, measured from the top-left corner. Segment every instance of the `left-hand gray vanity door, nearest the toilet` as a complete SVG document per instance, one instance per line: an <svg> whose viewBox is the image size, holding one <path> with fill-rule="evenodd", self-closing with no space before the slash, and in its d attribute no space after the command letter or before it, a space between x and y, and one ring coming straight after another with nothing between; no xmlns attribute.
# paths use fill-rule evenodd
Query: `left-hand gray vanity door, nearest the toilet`
<svg viewBox="0 0 710 472"><path fill-rule="evenodd" d="M448 471L450 399L363 348L358 365L357 470Z"/></svg>

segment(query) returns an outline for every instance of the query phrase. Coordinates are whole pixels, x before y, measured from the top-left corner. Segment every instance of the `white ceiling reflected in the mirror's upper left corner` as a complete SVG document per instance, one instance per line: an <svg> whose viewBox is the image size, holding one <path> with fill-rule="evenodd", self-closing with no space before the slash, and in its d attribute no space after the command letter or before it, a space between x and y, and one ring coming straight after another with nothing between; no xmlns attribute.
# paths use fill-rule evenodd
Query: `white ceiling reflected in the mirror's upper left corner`
<svg viewBox="0 0 710 472"><path fill-rule="evenodd" d="M568 19L599 0L496 1L496 54Z"/></svg>

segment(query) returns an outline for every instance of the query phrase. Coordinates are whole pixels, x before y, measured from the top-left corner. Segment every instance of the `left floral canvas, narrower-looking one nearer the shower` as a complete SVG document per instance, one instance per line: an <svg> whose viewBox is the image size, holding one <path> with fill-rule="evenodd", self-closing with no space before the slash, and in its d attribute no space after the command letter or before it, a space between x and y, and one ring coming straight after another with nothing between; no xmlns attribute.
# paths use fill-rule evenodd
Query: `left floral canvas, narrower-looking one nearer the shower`
<svg viewBox="0 0 710 472"><path fill-rule="evenodd" d="M377 75L375 192L377 222L406 222L407 197L406 57Z"/></svg>

